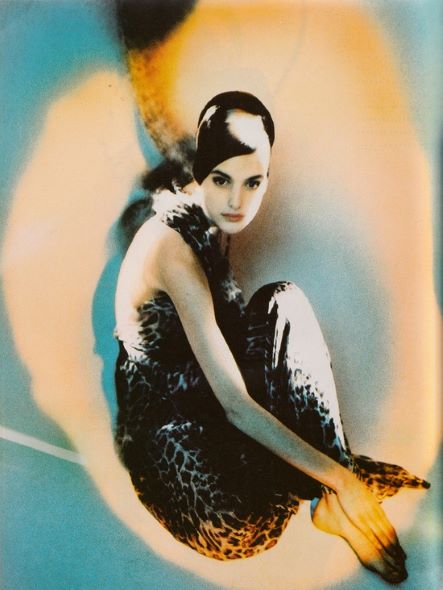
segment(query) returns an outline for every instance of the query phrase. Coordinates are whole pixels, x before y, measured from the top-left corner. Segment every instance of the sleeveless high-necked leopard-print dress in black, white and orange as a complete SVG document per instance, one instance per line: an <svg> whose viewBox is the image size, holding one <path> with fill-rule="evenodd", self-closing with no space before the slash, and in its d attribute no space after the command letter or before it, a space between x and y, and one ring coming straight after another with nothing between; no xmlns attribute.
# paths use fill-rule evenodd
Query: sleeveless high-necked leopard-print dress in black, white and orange
<svg viewBox="0 0 443 590"><path fill-rule="evenodd" d="M245 305L202 208L177 199L157 215L197 255L249 394L353 470L380 501L401 486L428 487L399 466L351 453L328 351L301 290L272 283ZM307 309L313 317L306 320ZM208 557L244 558L273 547L300 501L329 490L228 422L166 293L138 313L135 332L116 334L115 440L140 501L177 540ZM306 321L314 325L310 343Z"/></svg>

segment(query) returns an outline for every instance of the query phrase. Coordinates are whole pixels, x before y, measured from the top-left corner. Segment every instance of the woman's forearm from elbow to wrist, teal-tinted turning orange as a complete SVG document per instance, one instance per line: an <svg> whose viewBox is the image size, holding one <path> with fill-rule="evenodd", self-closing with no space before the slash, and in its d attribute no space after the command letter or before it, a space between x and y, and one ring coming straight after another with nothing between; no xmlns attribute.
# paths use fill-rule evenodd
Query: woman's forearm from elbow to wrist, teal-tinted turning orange
<svg viewBox="0 0 443 590"><path fill-rule="evenodd" d="M239 430L334 491L342 489L354 477L348 469L312 447L252 398L243 400L235 410L226 414Z"/></svg>

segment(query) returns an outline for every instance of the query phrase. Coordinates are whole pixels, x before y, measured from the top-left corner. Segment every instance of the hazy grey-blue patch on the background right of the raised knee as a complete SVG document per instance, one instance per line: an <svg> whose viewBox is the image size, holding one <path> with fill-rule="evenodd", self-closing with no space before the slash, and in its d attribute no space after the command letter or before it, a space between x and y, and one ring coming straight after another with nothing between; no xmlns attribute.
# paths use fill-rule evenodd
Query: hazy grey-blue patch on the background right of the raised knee
<svg viewBox="0 0 443 590"><path fill-rule="evenodd" d="M345 213L338 215L337 208L331 207L329 194L323 195L320 202L321 206L310 214L300 207L300 218L304 221L294 220L296 239L291 244L282 242L286 254L282 258L293 259L291 278L309 293L322 326L341 396L344 424L364 423L370 431L370 425L379 419L378 413L389 390L388 359L393 336L384 305L387 294L359 230L349 227ZM304 255L291 257L291 248L298 251L298 245ZM315 272L312 261L315 261ZM284 269L280 274L285 276ZM359 395L355 396L354 392ZM361 397L371 400L364 420ZM371 439L370 432L364 434L367 440ZM351 432L348 436L351 447L358 444Z"/></svg>

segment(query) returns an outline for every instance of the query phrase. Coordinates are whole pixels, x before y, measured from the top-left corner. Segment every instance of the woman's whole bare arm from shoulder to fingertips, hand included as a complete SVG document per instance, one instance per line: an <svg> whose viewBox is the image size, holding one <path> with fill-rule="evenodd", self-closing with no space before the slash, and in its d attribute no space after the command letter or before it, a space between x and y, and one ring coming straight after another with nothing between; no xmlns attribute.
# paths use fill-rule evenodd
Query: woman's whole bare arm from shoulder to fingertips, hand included
<svg viewBox="0 0 443 590"><path fill-rule="evenodd" d="M165 234L158 280L171 297L193 352L239 430L337 493L348 517L376 546L396 542L393 527L375 496L348 469L321 453L248 394L236 361L221 333L206 276L192 249L174 231Z"/></svg>

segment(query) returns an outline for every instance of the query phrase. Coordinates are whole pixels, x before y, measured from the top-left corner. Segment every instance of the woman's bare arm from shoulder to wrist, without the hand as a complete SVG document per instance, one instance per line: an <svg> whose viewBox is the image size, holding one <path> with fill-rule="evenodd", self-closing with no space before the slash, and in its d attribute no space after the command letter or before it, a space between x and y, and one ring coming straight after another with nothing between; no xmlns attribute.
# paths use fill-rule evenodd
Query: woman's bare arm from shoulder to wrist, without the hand
<svg viewBox="0 0 443 590"><path fill-rule="evenodd" d="M160 283L174 302L194 354L227 419L290 465L337 490L341 480L348 477L348 470L294 434L248 394L217 325L212 295L198 259L177 234L168 238L160 261Z"/></svg>

